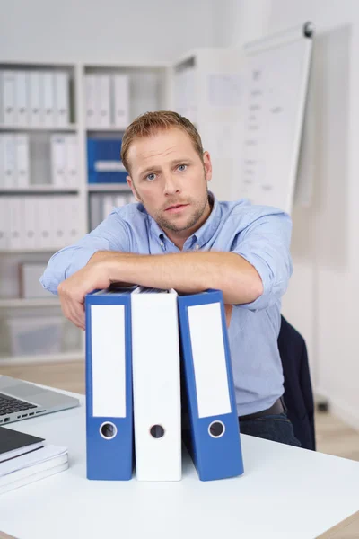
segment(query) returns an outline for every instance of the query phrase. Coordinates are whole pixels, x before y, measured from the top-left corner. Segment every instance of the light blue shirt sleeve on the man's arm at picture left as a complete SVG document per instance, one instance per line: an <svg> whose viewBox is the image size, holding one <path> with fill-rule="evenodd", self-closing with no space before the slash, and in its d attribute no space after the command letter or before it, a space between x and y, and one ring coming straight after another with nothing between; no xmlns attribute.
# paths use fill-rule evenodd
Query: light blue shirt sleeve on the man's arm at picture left
<svg viewBox="0 0 359 539"><path fill-rule="evenodd" d="M39 282L49 292L57 294L58 285L81 270L95 252L129 252L129 243L127 225L114 211L79 242L57 251L48 261Z"/></svg>

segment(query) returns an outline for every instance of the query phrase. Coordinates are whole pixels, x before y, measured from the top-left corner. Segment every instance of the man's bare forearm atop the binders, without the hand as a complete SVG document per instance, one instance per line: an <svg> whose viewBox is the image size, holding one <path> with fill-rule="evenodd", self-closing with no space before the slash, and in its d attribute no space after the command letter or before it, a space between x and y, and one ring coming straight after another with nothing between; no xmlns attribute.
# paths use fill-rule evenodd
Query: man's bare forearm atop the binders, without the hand
<svg viewBox="0 0 359 539"><path fill-rule="evenodd" d="M90 263L99 263L112 282L131 282L144 287L175 288L197 293L208 288L223 291L229 304L250 303L262 294L257 270L232 252L180 252L142 255L96 252Z"/></svg>

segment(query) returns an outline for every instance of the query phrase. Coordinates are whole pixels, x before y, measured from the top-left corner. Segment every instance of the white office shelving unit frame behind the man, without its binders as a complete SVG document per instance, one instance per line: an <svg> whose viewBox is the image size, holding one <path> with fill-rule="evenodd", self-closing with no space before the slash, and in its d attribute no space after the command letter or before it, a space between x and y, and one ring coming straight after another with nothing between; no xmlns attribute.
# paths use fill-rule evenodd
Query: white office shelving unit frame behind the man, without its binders
<svg viewBox="0 0 359 539"><path fill-rule="evenodd" d="M171 69L166 63L119 63L119 64L61 64L61 63L24 63L0 61L0 70L36 70L36 71L66 71L68 74L70 96L70 116L68 125L61 127L29 126L29 125L0 125L1 133L28 134L30 141L36 144L37 137L49 141L53 134L76 135L78 143L78 184L60 188L51 184L48 174L43 177L31 178L28 188L0 189L0 199L12 197L28 198L36 194L41 197L71 197L77 205L78 222L74 241L89 231L90 197L99 193L126 193L127 184L89 184L87 182L86 139L88 136L104 137L106 135L121 136L122 128L86 126L85 121L85 75L87 74L126 74L129 77L129 121L147 110L160 110L169 107L171 94ZM44 146L42 146L44 147ZM49 147L49 145L48 145ZM43 156L50 160L50 155ZM119 156L118 156L119 159ZM66 219L66 208L64 208ZM66 246L65 244L63 245ZM42 262L46 264L50 256L59 250L59 246L25 249L6 248L0 251L0 367L5 364L66 361L84 358L83 332L66 321L62 316L57 296L24 299L20 297L18 266L21 262ZM43 354L13 354L8 320L16 317L39 317L44 323L48 315L61 317L63 340L61 349Z"/></svg>

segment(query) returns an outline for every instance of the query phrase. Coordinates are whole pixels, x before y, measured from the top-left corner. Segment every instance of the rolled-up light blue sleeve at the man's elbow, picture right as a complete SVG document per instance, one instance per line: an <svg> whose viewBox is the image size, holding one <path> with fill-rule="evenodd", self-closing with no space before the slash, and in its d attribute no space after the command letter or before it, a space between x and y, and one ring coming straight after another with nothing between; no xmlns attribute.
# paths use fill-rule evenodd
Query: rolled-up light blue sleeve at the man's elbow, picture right
<svg viewBox="0 0 359 539"><path fill-rule="evenodd" d="M258 271L263 293L242 308L258 311L273 305L284 295L293 272L290 253L292 220L288 214L267 208L247 225L233 245L232 252L241 255Z"/></svg>

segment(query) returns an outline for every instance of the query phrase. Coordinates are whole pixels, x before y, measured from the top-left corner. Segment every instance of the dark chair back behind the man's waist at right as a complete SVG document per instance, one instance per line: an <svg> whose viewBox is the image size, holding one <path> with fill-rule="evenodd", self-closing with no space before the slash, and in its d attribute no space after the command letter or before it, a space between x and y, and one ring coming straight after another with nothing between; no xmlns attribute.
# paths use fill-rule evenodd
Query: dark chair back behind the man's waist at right
<svg viewBox="0 0 359 539"><path fill-rule="evenodd" d="M315 451L314 400L305 340L282 315L278 349L285 376L284 400L295 437Z"/></svg>

